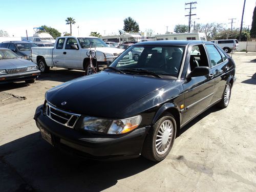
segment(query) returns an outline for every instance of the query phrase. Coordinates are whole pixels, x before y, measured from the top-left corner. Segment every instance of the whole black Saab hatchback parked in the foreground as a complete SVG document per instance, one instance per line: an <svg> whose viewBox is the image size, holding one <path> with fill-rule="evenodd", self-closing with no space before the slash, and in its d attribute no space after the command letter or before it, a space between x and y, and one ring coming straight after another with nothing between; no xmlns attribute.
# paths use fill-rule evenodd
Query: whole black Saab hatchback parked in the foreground
<svg viewBox="0 0 256 192"><path fill-rule="evenodd" d="M212 42L140 42L104 71L47 91L34 119L51 145L87 158L161 161L188 122L228 106L235 68Z"/></svg>

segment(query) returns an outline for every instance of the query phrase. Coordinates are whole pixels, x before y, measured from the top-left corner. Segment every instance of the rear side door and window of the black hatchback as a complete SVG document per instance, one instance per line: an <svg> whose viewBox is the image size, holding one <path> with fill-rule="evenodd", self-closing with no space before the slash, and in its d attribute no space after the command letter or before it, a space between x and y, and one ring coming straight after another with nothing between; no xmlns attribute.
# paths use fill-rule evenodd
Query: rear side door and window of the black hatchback
<svg viewBox="0 0 256 192"><path fill-rule="evenodd" d="M222 98L231 66L222 50L212 44L206 44L205 47L210 58L210 67L215 79L214 97L211 101L213 103Z"/></svg>

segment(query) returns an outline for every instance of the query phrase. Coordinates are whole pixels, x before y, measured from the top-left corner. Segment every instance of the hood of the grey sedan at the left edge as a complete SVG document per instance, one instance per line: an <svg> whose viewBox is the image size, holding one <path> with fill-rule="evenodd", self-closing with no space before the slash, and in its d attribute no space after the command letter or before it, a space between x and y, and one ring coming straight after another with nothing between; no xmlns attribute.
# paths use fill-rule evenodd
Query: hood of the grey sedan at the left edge
<svg viewBox="0 0 256 192"><path fill-rule="evenodd" d="M35 66L35 63L22 58L0 60L0 69L13 69L13 68L28 67L28 66Z"/></svg>

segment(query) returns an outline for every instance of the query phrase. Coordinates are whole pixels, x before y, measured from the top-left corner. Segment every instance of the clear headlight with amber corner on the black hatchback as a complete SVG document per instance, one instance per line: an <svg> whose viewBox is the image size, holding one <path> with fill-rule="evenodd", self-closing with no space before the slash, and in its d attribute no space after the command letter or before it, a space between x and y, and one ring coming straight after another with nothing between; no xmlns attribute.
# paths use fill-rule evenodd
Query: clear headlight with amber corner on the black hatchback
<svg viewBox="0 0 256 192"><path fill-rule="evenodd" d="M142 117L140 115L121 120L84 117L81 129L106 134L122 134L136 129L140 125L141 120Z"/></svg>

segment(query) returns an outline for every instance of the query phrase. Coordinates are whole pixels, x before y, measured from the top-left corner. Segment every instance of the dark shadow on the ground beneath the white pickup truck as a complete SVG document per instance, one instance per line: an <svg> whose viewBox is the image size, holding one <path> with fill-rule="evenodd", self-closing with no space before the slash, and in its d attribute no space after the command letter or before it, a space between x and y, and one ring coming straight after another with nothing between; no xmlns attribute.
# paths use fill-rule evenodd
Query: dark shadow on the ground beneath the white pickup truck
<svg viewBox="0 0 256 192"><path fill-rule="evenodd" d="M36 80L66 82L66 81L69 81L78 77L83 77L83 76L84 76L84 71L53 68L53 69L50 69L50 71L47 73L41 73Z"/></svg>

